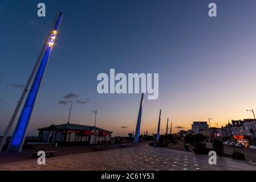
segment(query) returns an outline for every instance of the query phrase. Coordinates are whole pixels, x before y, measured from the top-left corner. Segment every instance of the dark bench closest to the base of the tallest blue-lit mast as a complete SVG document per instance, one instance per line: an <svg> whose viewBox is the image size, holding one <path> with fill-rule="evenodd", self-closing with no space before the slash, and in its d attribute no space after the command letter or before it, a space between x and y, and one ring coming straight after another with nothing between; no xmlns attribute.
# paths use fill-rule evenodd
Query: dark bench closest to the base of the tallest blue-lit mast
<svg viewBox="0 0 256 182"><path fill-rule="evenodd" d="M43 143L43 144L31 144L32 157L37 156L39 151L44 151L45 154L50 154L51 156L54 155L56 151L55 143Z"/></svg>

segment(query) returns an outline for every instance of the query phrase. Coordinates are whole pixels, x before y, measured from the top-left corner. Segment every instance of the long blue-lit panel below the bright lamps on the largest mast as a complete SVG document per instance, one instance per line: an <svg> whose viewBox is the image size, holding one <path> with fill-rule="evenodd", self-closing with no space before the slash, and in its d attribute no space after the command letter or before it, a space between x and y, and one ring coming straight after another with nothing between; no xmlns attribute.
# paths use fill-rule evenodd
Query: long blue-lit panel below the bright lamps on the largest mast
<svg viewBox="0 0 256 182"><path fill-rule="evenodd" d="M35 80L31 86L30 93L27 96L27 100L25 102L21 116L19 118L18 129L15 132L14 137L13 137L13 142L11 143L15 146L18 146L19 144L21 144L23 137L26 133L27 123L29 122L30 117L31 117L32 107L35 104L35 98L38 94L38 90L39 90L40 83L43 78L44 70L46 69L46 65L47 65L47 61L48 61L50 52L51 52L51 47L47 47L46 51L44 53L43 59L42 59L42 63L39 66L38 72L36 73Z"/></svg>

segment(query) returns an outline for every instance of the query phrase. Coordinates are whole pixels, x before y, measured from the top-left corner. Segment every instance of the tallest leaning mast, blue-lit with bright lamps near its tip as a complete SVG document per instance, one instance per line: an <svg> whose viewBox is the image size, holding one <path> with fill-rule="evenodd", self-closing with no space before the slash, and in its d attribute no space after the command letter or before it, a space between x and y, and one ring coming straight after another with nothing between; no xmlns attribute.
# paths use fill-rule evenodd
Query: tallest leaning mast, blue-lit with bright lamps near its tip
<svg viewBox="0 0 256 182"><path fill-rule="evenodd" d="M56 36L58 34L60 22L62 21L62 16L63 16L63 14L59 13L58 16L56 17L55 22L52 25L51 31L49 32L49 34L47 36L46 43L44 43L42 51L38 57L38 61L36 61L36 65L31 73L29 81L27 82L27 85L25 88L25 93L27 92L27 90L29 88L32 77L34 77L34 80L30 87L29 94L27 95L27 98L26 98L26 102L23 105L21 115L19 116L17 125L15 127L13 137L11 138L11 142L9 144L9 147L7 148L8 151L20 152L22 150L22 145L23 145L23 141L25 139L27 126L29 125L32 110L35 105L36 96L38 94L40 85L42 84L42 80L43 80L44 73L46 71L48 60L50 58L51 51L54 46ZM37 71L36 71L36 68L37 68ZM36 71L36 75L34 76L35 71ZM23 93L19 102L22 102L24 97L25 97L25 94ZM15 117L18 113L17 110L19 110L20 106L21 106L21 103L18 103L17 108L14 111L12 119L13 118L15 119ZM14 119L13 119L13 121L14 121ZM9 131L10 131L9 127L11 125L13 125L13 121L11 120L9 123L9 126L7 127L7 130L6 130L7 135L9 134ZM5 135L6 135L6 133L5 133ZM5 142L5 141L3 141L3 142Z"/></svg>

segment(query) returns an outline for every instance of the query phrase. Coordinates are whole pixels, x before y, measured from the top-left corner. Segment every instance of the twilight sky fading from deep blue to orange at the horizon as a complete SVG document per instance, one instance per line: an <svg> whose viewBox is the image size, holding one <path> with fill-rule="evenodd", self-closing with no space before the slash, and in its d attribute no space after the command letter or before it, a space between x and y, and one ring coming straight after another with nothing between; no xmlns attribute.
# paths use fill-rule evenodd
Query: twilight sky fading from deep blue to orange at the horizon
<svg viewBox="0 0 256 182"><path fill-rule="evenodd" d="M65 96L74 101L71 123L94 125L97 109L96 126L114 136L135 131L141 95L97 93L97 75L110 68L159 73L159 98L145 97L141 133L156 133L160 109L161 133L167 117L186 130L209 117L211 126L253 118L246 110L256 110L256 1L43 2L44 18L37 1L0 2L0 135L58 11L63 21L27 135L67 122Z"/></svg>

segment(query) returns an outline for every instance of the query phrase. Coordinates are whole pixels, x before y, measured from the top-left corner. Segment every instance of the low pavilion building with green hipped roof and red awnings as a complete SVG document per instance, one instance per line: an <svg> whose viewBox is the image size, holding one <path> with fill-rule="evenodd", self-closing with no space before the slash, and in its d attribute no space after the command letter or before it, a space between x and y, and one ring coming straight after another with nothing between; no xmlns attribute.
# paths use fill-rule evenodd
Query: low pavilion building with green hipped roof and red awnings
<svg viewBox="0 0 256 182"><path fill-rule="evenodd" d="M66 123L51 125L39 130L40 142L67 143L110 143L112 131L99 127Z"/></svg>

